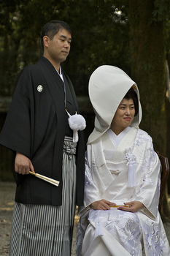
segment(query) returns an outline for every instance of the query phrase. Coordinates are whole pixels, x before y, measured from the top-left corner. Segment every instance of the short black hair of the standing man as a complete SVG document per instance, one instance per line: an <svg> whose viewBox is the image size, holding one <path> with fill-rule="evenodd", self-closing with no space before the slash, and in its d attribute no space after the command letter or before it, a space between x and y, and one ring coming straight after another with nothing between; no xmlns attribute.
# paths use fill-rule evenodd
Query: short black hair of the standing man
<svg viewBox="0 0 170 256"><path fill-rule="evenodd" d="M70 26L62 20L51 20L45 24L41 34L42 50L44 50L43 37L47 36L50 38L50 40L52 40L55 34L57 34L60 29L66 29L70 34L72 34L72 29L70 28Z"/></svg>

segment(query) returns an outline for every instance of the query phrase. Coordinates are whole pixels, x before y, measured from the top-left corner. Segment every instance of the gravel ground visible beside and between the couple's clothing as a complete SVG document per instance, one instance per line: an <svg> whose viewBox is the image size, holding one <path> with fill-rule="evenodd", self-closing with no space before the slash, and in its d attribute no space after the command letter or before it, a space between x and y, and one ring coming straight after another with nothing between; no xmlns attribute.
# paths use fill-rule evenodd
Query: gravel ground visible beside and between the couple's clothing
<svg viewBox="0 0 170 256"><path fill-rule="evenodd" d="M15 183L0 181L0 255L7 256L9 254L10 230L12 222L12 210L15 197ZM74 219L74 237L72 245L72 256L76 255L75 239L77 230L78 217ZM170 223L163 223L166 235L170 242Z"/></svg>

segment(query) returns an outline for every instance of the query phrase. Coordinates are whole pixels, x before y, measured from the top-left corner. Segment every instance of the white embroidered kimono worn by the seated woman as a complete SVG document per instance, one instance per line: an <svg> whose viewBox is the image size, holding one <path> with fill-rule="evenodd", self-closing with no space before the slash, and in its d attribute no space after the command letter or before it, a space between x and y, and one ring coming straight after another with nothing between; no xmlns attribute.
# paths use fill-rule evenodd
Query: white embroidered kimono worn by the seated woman
<svg viewBox="0 0 170 256"><path fill-rule="evenodd" d="M158 212L160 161L147 132L127 127L108 130L88 145L85 200L77 229L77 255L169 256L169 242ZM117 205L138 200L142 210L93 210L96 200Z"/></svg>

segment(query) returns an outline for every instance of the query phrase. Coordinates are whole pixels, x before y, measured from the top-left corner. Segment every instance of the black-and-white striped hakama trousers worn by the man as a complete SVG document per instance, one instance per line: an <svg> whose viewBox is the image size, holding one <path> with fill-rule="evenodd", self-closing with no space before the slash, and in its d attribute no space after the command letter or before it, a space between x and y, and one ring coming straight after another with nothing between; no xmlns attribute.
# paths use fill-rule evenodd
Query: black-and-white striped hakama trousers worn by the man
<svg viewBox="0 0 170 256"><path fill-rule="evenodd" d="M75 153L76 143L65 137L62 206L15 202L9 256L71 255L76 194Z"/></svg>

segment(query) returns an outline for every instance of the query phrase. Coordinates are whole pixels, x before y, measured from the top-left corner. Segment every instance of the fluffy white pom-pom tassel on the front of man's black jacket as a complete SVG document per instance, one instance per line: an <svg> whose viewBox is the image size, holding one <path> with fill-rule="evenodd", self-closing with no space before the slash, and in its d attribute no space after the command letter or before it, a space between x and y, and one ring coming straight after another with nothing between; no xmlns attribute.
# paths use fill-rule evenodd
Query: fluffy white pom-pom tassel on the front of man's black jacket
<svg viewBox="0 0 170 256"><path fill-rule="evenodd" d="M72 116L67 110L66 113L69 116L69 127L73 130L73 142L76 143L79 140L78 130L82 131L86 127L85 118L77 112Z"/></svg>

